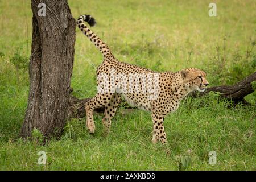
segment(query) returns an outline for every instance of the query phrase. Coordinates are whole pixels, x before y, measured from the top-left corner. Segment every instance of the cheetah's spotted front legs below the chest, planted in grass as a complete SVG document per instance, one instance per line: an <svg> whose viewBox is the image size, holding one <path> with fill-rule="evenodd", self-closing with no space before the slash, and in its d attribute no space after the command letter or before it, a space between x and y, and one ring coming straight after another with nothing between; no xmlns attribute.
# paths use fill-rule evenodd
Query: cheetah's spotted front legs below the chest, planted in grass
<svg viewBox="0 0 256 182"><path fill-rule="evenodd" d="M158 114L152 114L152 121L153 121L153 138L152 142L156 143L160 140L161 143L168 143L166 138L166 133L164 132L163 126L163 116Z"/></svg>

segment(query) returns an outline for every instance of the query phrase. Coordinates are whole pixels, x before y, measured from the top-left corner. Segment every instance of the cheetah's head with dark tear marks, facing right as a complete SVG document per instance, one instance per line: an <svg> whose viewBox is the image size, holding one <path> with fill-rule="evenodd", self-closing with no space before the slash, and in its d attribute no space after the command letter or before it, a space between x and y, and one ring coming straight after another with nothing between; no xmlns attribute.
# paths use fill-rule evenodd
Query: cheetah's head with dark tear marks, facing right
<svg viewBox="0 0 256 182"><path fill-rule="evenodd" d="M204 92L209 82L206 80L206 73L197 68L183 69L180 74L184 80L184 84L190 92L197 90Z"/></svg>

